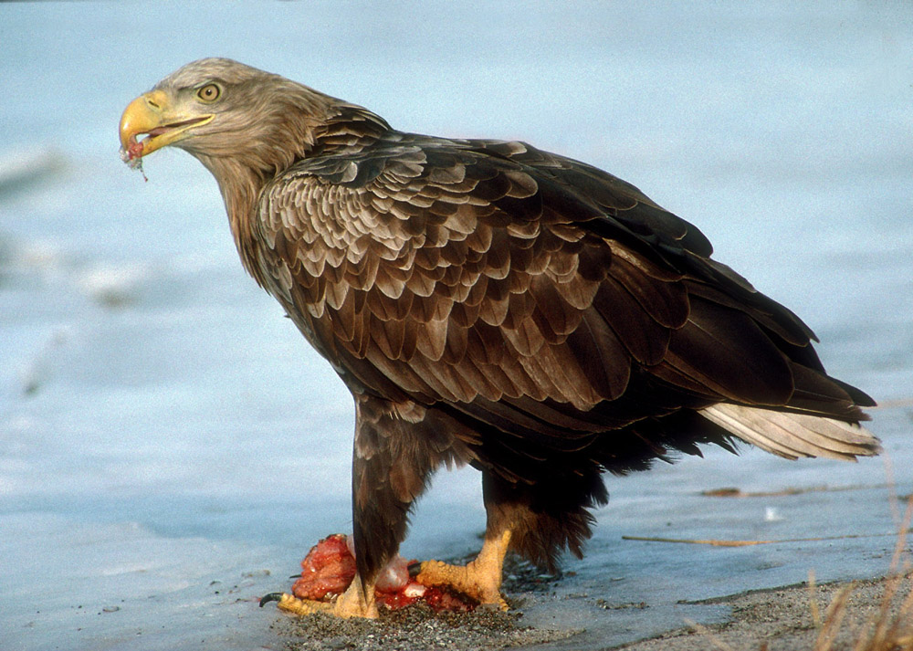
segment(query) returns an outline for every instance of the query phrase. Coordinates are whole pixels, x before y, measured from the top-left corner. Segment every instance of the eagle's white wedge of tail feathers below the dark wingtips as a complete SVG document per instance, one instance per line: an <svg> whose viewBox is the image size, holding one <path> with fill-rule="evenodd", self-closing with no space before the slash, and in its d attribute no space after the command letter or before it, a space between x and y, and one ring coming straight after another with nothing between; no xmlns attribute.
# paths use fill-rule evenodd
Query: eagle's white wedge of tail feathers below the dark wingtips
<svg viewBox="0 0 913 651"><path fill-rule="evenodd" d="M715 404L700 415L743 441L780 457L855 460L881 451L878 439L859 425L813 416L775 412L740 404Z"/></svg>

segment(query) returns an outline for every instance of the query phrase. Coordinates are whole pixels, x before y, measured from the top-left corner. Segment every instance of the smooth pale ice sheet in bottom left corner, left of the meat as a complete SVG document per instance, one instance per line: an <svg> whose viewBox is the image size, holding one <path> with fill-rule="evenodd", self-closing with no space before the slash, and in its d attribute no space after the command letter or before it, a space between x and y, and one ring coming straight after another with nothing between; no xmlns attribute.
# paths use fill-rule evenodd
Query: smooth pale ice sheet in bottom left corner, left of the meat
<svg viewBox="0 0 913 651"><path fill-rule="evenodd" d="M263 551L163 537L130 521L7 513L4 646L267 647L271 617L257 595L275 579Z"/></svg>

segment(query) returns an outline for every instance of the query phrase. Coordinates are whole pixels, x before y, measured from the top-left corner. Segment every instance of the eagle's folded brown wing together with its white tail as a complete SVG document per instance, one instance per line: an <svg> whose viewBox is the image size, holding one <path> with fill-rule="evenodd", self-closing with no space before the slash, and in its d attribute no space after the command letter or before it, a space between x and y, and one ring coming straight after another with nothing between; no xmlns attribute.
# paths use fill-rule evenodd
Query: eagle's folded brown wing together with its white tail
<svg viewBox="0 0 913 651"><path fill-rule="evenodd" d="M698 229L522 143L421 139L302 161L261 207L268 289L363 387L545 448L702 409L786 457L876 450L817 417L857 421L871 399L827 377L807 326L710 260Z"/></svg>

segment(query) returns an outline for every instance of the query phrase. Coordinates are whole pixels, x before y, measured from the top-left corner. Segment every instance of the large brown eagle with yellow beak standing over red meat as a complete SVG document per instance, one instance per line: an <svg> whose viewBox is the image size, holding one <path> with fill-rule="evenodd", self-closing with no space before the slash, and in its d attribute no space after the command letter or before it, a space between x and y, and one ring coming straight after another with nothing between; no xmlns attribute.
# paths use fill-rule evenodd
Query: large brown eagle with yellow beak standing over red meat
<svg viewBox="0 0 913 651"><path fill-rule="evenodd" d="M526 142L397 131L371 110L226 58L132 100L128 163L174 146L218 183L241 262L352 392L357 573L373 585L437 468L481 473L484 543L418 581L504 606L513 550L582 555L603 473L698 446L877 454L868 395L824 371L813 331L714 260L634 185Z"/></svg>

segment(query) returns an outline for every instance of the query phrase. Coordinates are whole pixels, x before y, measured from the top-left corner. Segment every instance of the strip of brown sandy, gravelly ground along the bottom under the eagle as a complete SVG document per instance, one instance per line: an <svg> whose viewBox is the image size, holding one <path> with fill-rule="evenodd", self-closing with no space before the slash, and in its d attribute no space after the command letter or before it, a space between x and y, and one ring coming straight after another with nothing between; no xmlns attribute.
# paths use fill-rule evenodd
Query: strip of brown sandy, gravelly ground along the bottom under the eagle
<svg viewBox="0 0 913 651"><path fill-rule="evenodd" d="M560 580L558 580L560 581ZM524 622L523 606L530 600L549 598L551 581L541 582L529 572L514 574L513 588L524 596L512 604L509 613L477 611L471 614L434 614L425 606L413 606L385 613L377 622L343 621L326 615L305 618L284 617L273 630L286 640L291 651L335 649L498 649L524 648L564 650L577 648L625 649L626 651L776 651L782 649L850 649L884 613L897 618L903 600L913 591L913 572L901 579L876 578L854 583L827 583L810 589L808 582L781 588L754 590L709 600L683 602L683 606L713 606L716 623L701 625L683 618L682 625L661 635L636 639L621 645L594 643L599 631L583 627L536 627ZM885 604L886 591L895 597ZM849 591L841 623L830 629L829 610L842 591ZM909 601L909 599L908 599ZM909 604L907 616L909 617ZM643 608L647 604L605 605L607 609ZM886 610L887 608L887 610ZM708 612L705 611L705 616ZM714 614L709 613L711 618ZM827 642L824 643L824 632ZM909 630L908 634L913 633ZM821 644L824 646L816 646ZM897 646L898 651L913 648Z"/></svg>

